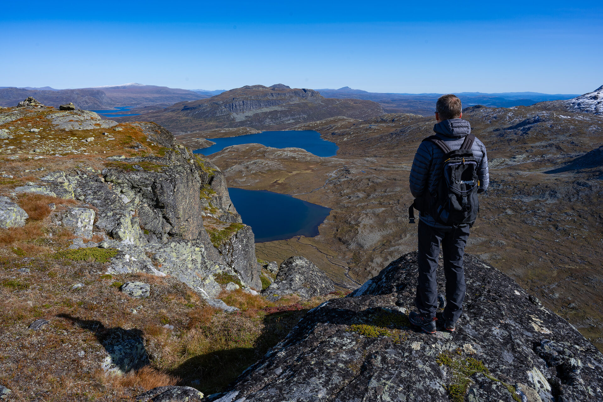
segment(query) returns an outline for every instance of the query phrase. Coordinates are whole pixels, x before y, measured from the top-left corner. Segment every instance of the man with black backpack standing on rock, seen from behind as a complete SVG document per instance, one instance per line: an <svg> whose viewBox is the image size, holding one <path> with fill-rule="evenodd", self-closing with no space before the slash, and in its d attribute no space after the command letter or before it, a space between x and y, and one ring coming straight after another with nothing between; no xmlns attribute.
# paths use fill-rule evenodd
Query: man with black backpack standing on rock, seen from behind
<svg viewBox="0 0 603 402"><path fill-rule="evenodd" d="M484 144L471 134L468 121L461 119L461 99L444 95L435 105L435 135L426 138L417 149L410 175L415 197L409 210L419 210L418 283L411 324L426 333L435 333L438 289L435 271L440 244L444 255L446 307L444 328L454 331L463 313L465 275L463 257L469 229L479 204L477 193L488 188L488 158Z"/></svg>

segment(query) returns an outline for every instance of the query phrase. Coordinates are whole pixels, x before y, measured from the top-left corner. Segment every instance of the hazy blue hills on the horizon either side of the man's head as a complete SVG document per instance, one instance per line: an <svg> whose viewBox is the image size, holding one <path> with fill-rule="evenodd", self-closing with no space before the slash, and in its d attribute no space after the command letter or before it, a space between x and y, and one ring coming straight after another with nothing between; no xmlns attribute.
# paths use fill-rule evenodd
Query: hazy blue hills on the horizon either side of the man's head
<svg viewBox="0 0 603 402"><path fill-rule="evenodd" d="M380 93L367 92L361 89L343 87L339 89L317 89L327 98L355 98L379 102L387 113L416 113L418 115L431 115L435 111L435 101L443 93ZM490 107L529 106L537 102L553 101L557 99L570 99L577 95L548 94L539 92L460 92L455 93L463 106L486 105Z"/></svg>

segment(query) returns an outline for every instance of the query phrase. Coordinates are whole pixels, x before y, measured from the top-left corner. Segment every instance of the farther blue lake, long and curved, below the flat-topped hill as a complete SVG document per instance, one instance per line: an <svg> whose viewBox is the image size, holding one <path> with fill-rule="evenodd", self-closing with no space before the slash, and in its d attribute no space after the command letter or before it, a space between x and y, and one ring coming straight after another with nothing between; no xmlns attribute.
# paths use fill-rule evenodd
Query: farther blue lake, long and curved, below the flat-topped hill
<svg viewBox="0 0 603 402"><path fill-rule="evenodd" d="M317 156L335 156L339 147L335 143L323 140L314 130L304 131L262 131L257 134L245 134L238 137L208 138L215 145L196 149L195 154L210 155L230 145L259 143L273 148L303 148Z"/></svg>

